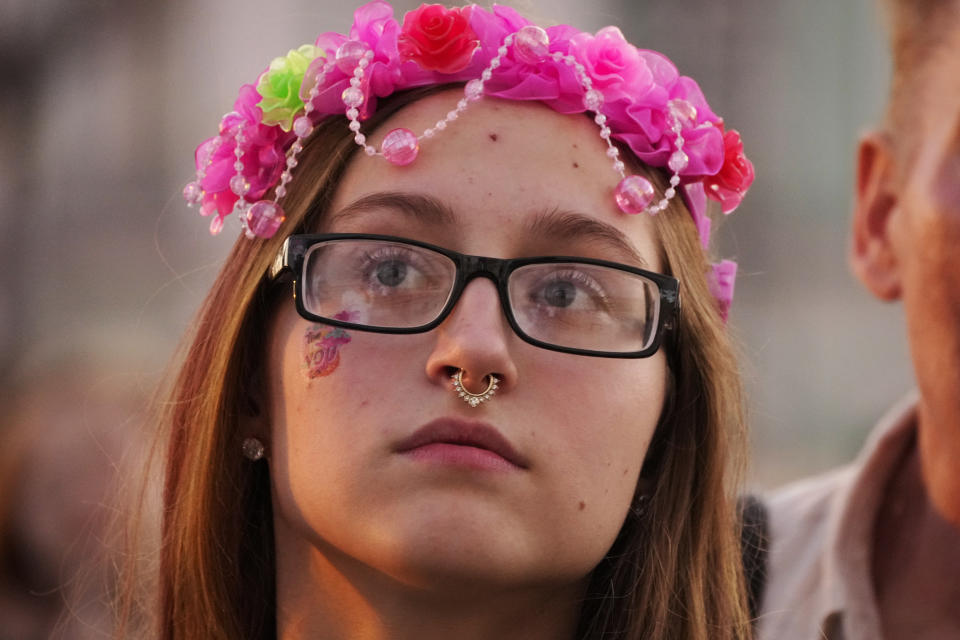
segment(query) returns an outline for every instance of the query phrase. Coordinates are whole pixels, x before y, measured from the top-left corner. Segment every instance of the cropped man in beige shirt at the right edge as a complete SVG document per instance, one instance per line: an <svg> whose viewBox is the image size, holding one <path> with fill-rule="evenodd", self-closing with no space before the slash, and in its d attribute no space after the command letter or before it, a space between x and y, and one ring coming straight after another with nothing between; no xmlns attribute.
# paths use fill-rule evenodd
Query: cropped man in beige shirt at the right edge
<svg viewBox="0 0 960 640"><path fill-rule="evenodd" d="M902 301L917 391L854 464L770 499L769 640L960 638L960 1L883 5L892 93L858 149L851 263Z"/></svg>

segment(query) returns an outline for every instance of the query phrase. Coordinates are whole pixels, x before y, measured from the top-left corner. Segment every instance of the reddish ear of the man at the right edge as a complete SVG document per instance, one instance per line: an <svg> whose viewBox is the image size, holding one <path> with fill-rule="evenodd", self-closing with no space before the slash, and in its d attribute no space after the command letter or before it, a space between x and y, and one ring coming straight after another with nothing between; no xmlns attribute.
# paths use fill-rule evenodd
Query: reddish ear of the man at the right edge
<svg viewBox="0 0 960 640"><path fill-rule="evenodd" d="M899 213L896 166L889 142L866 134L857 148L856 199L850 265L860 281L881 300L901 295L901 274L891 233Z"/></svg>

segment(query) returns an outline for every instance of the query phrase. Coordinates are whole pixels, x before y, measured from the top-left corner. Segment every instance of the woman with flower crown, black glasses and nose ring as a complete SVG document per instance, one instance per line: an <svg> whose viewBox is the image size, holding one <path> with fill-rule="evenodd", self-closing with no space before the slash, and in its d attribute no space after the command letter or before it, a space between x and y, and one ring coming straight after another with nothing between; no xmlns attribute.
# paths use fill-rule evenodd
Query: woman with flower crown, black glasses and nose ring
<svg viewBox="0 0 960 640"><path fill-rule="evenodd" d="M197 168L245 237L164 405L159 620L120 635L749 636L705 206L753 170L665 56L373 2Z"/></svg>

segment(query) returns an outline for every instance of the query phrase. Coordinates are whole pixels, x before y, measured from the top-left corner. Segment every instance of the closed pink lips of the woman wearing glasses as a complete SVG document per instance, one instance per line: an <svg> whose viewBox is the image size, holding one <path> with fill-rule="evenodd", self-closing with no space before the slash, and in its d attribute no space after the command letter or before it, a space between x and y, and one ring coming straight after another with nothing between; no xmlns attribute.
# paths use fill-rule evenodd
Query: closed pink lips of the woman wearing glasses
<svg viewBox="0 0 960 640"><path fill-rule="evenodd" d="M485 422L438 418L394 447L396 453L427 463L473 469L526 469L529 463L499 431Z"/></svg>

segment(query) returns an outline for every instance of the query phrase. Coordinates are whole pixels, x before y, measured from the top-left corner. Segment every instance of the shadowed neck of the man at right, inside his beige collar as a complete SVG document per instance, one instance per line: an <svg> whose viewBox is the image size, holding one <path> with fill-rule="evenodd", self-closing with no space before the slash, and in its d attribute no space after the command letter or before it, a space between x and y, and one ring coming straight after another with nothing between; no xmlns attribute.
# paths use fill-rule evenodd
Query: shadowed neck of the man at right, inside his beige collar
<svg viewBox="0 0 960 640"><path fill-rule="evenodd" d="M874 525L873 580L884 637L960 637L960 531L927 497L912 446Z"/></svg>

